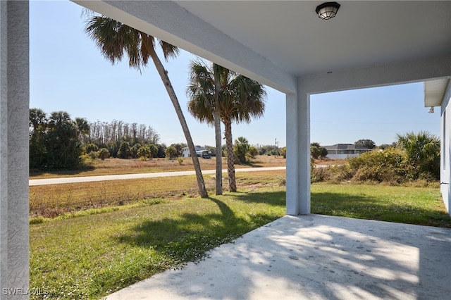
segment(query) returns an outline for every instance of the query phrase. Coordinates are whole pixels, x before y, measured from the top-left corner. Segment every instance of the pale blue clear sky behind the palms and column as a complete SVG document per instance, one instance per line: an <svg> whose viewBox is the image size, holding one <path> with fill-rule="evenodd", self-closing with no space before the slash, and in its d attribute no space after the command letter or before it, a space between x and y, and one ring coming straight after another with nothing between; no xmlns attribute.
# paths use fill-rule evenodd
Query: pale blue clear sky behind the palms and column
<svg viewBox="0 0 451 300"><path fill-rule="evenodd" d="M166 144L185 142L171 101L153 65L111 65L85 35L82 8L70 1L30 1L30 107L66 111L72 118L152 125ZM187 112L188 65L182 51L164 63L194 144L214 145L214 129ZM285 94L267 88L266 112L250 124L233 125L233 138L285 146ZM428 113L423 84L359 89L311 96L311 142L321 145L372 139L391 144L397 133L426 130L440 135L440 109Z"/></svg>

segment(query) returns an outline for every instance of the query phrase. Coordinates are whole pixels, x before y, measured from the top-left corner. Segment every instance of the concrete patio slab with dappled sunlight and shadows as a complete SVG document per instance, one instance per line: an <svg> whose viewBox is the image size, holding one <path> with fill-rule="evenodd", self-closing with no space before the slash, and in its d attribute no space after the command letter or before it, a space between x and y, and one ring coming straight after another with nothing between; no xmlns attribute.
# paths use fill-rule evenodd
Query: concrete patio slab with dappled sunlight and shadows
<svg viewBox="0 0 451 300"><path fill-rule="evenodd" d="M285 216L113 299L451 299L451 230Z"/></svg>

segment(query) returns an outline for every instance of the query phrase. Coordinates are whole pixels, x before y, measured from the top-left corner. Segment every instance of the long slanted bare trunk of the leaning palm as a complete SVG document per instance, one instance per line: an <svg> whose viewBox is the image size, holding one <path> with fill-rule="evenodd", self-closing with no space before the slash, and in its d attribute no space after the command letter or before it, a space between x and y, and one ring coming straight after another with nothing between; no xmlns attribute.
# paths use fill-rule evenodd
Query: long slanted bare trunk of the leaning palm
<svg viewBox="0 0 451 300"><path fill-rule="evenodd" d="M209 195L206 192L204 177L202 176L202 170L200 169L200 163L199 158L197 157L196 154L196 148L194 147L194 143L192 142L190 130L188 129L188 125L186 123L185 116L183 115L182 108L180 108L180 103L178 102L177 95L175 94L174 89L172 87L171 80L169 80L168 73L164 69L163 63L161 63L160 58L156 55L154 47L151 45L146 46L150 56L152 57L152 60L154 61L156 70L158 71L161 80L163 80L164 87L166 87L166 91L168 92L169 98L171 99L171 102L175 108L175 113L177 113L180 125L182 125L183 134L185 135L186 142L188 144L188 149L190 149L192 164L194 165L194 170L196 172L199 195L202 198L207 198Z"/></svg>

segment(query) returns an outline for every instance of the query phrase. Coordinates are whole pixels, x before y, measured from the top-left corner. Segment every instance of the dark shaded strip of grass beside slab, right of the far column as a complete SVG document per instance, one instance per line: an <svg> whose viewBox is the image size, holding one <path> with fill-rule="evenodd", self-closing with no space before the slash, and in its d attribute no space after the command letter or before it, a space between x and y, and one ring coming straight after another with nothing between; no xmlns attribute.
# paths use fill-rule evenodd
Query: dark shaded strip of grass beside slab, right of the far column
<svg viewBox="0 0 451 300"><path fill-rule="evenodd" d="M451 227L445 211L413 203L396 203L389 199L338 193L311 193L311 213L366 220Z"/></svg>

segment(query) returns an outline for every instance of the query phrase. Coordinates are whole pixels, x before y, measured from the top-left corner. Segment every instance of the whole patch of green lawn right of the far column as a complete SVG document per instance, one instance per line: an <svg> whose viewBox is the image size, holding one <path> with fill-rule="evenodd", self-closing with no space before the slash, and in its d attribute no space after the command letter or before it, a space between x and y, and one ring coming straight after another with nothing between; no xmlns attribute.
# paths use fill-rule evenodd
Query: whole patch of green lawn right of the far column
<svg viewBox="0 0 451 300"><path fill-rule="evenodd" d="M451 227L438 188L314 184L311 193L311 213Z"/></svg>

